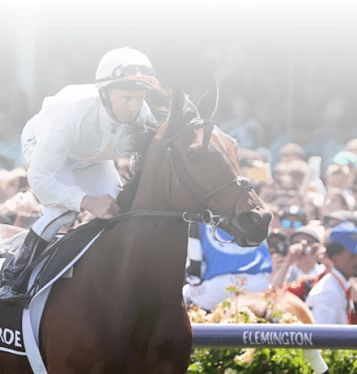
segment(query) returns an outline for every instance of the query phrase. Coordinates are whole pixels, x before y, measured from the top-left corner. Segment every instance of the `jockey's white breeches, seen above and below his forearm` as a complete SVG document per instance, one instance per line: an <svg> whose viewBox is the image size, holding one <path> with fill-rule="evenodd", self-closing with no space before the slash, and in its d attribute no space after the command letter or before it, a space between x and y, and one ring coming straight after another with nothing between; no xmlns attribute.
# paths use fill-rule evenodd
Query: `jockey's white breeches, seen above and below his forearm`
<svg viewBox="0 0 357 374"><path fill-rule="evenodd" d="M103 161L82 168L71 169L65 164L56 179L66 186L79 186L90 196L109 194L116 198L120 190L118 171L113 161ZM51 241L61 227L70 227L78 212L62 206L45 206L43 216L32 225L32 230L43 239Z"/></svg>

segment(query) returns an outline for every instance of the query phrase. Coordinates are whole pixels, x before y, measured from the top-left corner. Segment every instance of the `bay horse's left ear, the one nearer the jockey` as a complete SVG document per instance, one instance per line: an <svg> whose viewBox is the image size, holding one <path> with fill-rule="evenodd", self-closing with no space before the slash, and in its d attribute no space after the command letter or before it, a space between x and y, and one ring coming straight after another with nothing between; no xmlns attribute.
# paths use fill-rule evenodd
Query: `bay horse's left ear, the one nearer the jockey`
<svg viewBox="0 0 357 374"><path fill-rule="evenodd" d="M172 137L184 126L185 95L181 83L177 80L172 88L170 118L166 127L166 136Z"/></svg>

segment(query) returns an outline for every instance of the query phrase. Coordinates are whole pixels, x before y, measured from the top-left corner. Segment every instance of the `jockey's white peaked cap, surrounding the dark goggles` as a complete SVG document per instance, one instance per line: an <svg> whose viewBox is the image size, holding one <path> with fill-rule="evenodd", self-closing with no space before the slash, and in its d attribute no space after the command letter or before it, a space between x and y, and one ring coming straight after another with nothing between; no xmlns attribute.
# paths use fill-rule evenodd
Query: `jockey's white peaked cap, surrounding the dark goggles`
<svg viewBox="0 0 357 374"><path fill-rule="evenodd" d="M128 80L142 81L143 83L147 82L151 83L151 85L160 85L157 78L144 75L140 72L140 69L133 76L125 76L116 79L116 76L120 76L122 73L120 67L126 67L128 65L138 65L138 67L150 67L153 69L149 58L138 50L123 47L118 50L109 51L102 57L102 60L98 65L96 72L96 88L100 89L101 87L111 85L112 83L125 82ZM98 82L98 80L101 81Z"/></svg>

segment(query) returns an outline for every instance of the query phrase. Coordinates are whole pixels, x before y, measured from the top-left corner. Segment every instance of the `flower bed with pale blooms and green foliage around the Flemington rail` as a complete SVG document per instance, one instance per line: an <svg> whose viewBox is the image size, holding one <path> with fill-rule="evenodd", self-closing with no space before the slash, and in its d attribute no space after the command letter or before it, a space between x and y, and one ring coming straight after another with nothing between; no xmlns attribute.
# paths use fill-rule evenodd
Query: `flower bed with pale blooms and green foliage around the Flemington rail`
<svg viewBox="0 0 357 374"><path fill-rule="evenodd" d="M229 290L229 289L228 289ZM195 323L301 323L296 316L274 308L274 295L267 292L269 318L258 318L247 307L238 308L239 292L217 305L212 313L191 305L188 316ZM272 301L273 300L273 301ZM357 351L321 350L331 374L357 374ZM314 374L302 349L193 348L188 373L205 374Z"/></svg>

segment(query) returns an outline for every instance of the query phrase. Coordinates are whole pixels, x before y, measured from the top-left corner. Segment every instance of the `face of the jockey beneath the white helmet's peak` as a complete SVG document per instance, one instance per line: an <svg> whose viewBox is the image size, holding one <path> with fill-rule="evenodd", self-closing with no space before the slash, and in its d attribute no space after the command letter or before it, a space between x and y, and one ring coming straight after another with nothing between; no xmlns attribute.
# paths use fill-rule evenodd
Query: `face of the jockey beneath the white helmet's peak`
<svg viewBox="0 0 357 374"><path fill-rule="evenodd" d="M136 120L147 91L127 91L117 88L109 88L108 91L116 118L123 123ZM105 109L111 115L109 109Z"/></svg>

